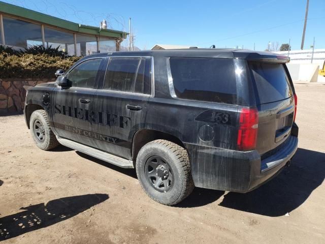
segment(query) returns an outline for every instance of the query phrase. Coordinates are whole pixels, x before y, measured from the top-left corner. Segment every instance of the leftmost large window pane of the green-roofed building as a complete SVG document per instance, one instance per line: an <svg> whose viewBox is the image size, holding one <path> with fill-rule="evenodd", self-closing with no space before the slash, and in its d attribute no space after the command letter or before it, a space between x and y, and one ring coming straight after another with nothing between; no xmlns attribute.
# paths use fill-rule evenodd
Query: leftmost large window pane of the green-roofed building
<svg viewBox="0 0 325 244"><path fill-rule="evenodd" d="M27 48L42 45L42 29L40 24L3 16L6 45Z"/></svg>

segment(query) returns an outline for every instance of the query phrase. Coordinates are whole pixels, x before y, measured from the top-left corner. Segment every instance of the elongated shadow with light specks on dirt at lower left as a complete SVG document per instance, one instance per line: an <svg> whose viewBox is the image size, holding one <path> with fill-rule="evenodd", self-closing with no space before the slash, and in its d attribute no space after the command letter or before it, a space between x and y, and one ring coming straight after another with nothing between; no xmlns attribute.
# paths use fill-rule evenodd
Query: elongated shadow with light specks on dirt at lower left
<svg viewBox="0 0 325 244"><path fill-rule="evenodd" d="M87 194L21 207L24 211L0 218L0 241L70 219L107 199L107 194Z"/></svg>

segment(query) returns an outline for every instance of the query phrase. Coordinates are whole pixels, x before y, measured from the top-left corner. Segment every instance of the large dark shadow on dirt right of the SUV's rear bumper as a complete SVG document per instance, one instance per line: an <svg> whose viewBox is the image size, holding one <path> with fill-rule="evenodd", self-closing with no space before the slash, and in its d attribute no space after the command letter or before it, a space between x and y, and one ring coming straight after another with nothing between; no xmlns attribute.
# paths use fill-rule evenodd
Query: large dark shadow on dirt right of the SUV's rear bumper
<svg viewBox="0 0 325 244"><path fill-rule="evenodd" d="M220 203L270 217L283 216L303 204L325 177L325 154L298 148L291 166L256 190L226 194Z"/></svg>

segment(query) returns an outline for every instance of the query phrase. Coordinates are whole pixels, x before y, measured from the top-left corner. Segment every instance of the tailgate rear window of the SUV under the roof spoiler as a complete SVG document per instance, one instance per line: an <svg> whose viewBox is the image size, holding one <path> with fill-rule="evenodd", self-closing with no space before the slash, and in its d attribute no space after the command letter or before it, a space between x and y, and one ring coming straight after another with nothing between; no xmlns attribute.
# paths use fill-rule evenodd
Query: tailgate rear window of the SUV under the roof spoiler
<svg viewBox="0 0 325 244"><path fill-rule="evenodd" d="M293 95L282 64L250 63L257 104L271 103Z"/></svg>

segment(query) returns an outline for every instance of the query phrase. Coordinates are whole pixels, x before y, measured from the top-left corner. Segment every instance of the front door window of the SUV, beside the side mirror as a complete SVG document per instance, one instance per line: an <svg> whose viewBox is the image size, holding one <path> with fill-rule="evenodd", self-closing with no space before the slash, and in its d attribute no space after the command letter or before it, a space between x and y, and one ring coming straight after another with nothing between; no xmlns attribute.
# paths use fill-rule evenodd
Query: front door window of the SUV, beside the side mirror
<svg viewBox="0 0 325 244"><path fill-rule="evenodd" d="M94 58L82 62L68 74L68 80L73 87L94 88L96 76L100 68L102 58Z"/></svg>

